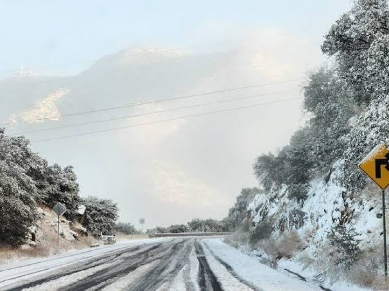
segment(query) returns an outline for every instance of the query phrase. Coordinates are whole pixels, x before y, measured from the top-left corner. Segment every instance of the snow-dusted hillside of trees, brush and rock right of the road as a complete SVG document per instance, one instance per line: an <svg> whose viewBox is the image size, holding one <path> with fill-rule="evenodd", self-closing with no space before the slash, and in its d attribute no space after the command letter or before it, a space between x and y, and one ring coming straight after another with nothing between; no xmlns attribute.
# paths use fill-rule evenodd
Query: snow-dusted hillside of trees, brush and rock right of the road
<svg viewBox="0 0 389 291"><path fill-rule="evenodd" d="M386 0L356 0L332 25L321 46L331 65L310 71L302 88L309 119L255 160L260 189L243 189L226 218L232 245L273 267L295 257L315 266L318 282L383 288L379 190L357 164L389 144L388 46Z"/></svg>

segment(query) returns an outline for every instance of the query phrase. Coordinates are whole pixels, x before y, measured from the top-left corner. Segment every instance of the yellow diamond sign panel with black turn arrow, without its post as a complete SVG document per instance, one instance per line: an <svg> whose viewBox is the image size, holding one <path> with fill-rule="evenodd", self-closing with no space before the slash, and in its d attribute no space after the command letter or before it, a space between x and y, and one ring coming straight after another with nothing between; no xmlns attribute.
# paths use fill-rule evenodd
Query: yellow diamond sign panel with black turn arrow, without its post
<svg viewBox="0 0 389 291"><path fill-rule="evenodd" d="M389 186L389 148L380 144L358 164L382 190Z"/></svg>

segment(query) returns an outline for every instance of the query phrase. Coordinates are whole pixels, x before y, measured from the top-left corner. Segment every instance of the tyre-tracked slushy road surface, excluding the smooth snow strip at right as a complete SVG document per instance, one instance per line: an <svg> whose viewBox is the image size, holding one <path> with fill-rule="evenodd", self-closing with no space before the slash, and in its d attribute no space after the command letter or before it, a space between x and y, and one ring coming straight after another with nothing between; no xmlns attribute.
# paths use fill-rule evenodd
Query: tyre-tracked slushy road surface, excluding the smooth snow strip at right
<svg viewBox="0 0 389 291"><path fill-rule="evenodd" d="M219 265L216 267L228 274L223 282L212 271L215 266L210 267L210 256L217 260ZM15 267L14 275L0 281L0 290L227 291L223 284L228 286L228 280L235 282L235 286L240 284L239 290L260 290L240 279L227 263L208 250L201 239L195 238L118 247L48 269L32 268L31 272L18 275L18 267Z"/></svg>

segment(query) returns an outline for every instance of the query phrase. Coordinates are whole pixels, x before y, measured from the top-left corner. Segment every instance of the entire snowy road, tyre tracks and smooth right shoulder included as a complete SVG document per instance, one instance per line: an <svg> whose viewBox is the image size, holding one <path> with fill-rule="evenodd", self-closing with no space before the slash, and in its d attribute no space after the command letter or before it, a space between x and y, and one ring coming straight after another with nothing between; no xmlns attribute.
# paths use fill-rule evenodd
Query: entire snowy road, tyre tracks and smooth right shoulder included
<svg viewBox="0 0 389 291"><path fill-rule="evenodd" d="M0 290L312 291L216 238L159 238L0 266Z"/></svg>

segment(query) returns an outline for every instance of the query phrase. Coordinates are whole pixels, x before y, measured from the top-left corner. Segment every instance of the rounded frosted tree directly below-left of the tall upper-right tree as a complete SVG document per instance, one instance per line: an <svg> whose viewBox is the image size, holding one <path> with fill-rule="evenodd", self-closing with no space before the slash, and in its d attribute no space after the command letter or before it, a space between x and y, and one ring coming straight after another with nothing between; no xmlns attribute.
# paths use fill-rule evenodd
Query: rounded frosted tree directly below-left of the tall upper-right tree
<svg viewBox="0 0 389 291"><path fill-rule="evenodd" d="M306 159L313 174L328 172L343 155L342 139L349 131L349 119L355 114L350 90L345 90L332 69L320 68L309 73L304 86L304 110L311 114Z"/></svg>

